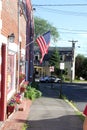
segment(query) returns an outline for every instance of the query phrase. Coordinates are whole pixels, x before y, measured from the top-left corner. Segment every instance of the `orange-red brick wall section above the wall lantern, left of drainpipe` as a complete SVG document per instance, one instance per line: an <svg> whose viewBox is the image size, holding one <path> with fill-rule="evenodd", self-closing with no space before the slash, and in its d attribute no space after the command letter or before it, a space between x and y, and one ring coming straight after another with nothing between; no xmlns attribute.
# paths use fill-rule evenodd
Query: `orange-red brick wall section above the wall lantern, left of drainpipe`
<svg viewBox="0 0 87 130"><path fill-rule="evenodd" d="M2 34L6 37L11 33L16 36L15 42L18 39L18 25L17 25L17 0L2 1Z"/></svg>

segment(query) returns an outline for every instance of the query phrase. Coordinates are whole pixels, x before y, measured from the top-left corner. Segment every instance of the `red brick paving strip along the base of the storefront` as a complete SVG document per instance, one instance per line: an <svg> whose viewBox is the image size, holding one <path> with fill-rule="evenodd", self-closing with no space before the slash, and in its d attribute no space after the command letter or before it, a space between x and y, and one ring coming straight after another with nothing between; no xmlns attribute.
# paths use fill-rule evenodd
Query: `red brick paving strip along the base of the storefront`
<svg viewBox="0 0 87 130"><path fill-rule="evenodd" d="M22 127L28 118L31 103L31 100L24 99L19 106L19 108L23 108L23 111L14 112L4 123L2 123L0 130L22 130Z"/></svg>

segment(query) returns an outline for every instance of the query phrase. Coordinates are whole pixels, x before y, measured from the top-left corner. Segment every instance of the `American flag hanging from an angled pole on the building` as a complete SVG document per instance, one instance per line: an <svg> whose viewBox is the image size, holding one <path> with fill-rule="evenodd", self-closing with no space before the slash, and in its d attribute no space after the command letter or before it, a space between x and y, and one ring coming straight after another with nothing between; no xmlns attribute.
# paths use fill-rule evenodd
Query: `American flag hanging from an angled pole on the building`
<svg viewBox="0 0 87 130"><path fill-rule="evenodd" d="M48 47L50 44L50 31L44 33L42 36L37 37L36 42L40 47L42 57L40 63L42 63L44 55L48 53Z"/></svg>

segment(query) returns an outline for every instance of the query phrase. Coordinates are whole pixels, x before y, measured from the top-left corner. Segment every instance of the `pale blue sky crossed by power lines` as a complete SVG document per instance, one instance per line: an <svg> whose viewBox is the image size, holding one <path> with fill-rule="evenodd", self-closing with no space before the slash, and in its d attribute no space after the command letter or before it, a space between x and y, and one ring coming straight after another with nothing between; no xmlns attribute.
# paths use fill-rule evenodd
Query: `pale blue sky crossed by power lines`
<svg viewBox="0 0 87 130"><path fill-rule="evenodd" d="M70 41L77 41L76 55L82 54L87 57L87 0L31 0L31 2L36 9L33 12L34 16L47 20L57 28L59 40L55 46L71 47ZM52 42L51 46L54 46Z"/></svg>

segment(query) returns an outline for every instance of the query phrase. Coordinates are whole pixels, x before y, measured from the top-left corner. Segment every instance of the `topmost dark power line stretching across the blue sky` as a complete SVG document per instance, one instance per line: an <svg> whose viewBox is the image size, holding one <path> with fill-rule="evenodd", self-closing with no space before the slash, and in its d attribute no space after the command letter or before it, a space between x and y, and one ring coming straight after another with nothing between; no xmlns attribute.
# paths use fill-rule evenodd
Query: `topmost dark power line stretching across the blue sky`
<svg viewBox="0 0 87 130"><path fill-rule="evenodd" d="M33 6L87 6L86 4L33 4Z"/></svg>

